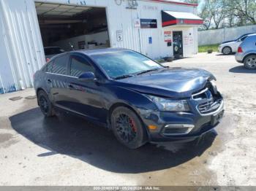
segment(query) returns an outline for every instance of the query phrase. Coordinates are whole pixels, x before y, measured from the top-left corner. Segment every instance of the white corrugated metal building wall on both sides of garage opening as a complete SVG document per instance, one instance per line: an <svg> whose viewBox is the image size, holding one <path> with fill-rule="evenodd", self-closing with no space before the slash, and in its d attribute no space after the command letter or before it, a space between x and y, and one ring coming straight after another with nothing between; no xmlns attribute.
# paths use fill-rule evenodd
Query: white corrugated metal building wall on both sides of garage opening
<svg viewBox="0 0 256 191"><path fill-rule="evenodd" d="M167 47L163 34L165 30L176 29L162 28L161 10L195 13L195 7L145 0L138 1L138 9L127 9L128 1L121 1L121 5L115 0L41 1L106 7L110 46L136 50L151 58L173 55L173 47ZM136 18L157 19L158 28L135 28ZM22 86L32 87L33 74L45 63L34 0L0 0L0 30L0 93L20 90ZM120 30L123 31L123 41L118 42L116 31ZM148 37L152 38L152 44L148 43ZM196 47L196 43L195 48L187 47L186 53L196 52Z"/></svg>

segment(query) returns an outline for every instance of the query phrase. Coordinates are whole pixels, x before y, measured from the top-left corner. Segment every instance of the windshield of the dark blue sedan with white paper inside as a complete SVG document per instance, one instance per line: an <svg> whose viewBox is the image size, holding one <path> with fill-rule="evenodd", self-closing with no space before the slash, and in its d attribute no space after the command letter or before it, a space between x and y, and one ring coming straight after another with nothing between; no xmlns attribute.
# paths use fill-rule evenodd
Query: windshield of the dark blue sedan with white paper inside
<svg viewBox="0 0 256 191"><path fill-rule="evenodd" d="M112 79L132 77L135 74L164 68L146 56L129 50L92 55L91 57Z"/></svg>

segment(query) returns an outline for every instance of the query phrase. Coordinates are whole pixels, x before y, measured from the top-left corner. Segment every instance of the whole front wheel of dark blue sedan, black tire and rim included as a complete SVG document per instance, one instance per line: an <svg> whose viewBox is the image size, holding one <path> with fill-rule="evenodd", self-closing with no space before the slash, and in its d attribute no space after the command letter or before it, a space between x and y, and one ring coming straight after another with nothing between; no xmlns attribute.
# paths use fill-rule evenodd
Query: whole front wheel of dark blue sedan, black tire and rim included
<svg viewBox="0 0 256 191"><path fill-rule="evenodd" d="M131 109L119 106L111 114L111 128L116 139L129 149L146 144L147 133L138 115Z"/></svg>

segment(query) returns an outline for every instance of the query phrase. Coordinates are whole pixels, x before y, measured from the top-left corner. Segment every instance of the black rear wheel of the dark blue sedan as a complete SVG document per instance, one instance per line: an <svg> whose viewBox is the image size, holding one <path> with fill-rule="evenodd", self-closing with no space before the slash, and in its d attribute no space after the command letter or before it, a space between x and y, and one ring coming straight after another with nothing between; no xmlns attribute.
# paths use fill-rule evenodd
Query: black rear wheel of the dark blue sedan
<svg viewBox="0 0 256 191"><path fill-rule="evenodd" d="M45 115L45 117L55 116L53 104L51 104L50 99L48 98L48 95L47 93L45 93L45 91L39 90L39 92L37 93L37 99L39 108L41 109L41 112Z"/></svg>

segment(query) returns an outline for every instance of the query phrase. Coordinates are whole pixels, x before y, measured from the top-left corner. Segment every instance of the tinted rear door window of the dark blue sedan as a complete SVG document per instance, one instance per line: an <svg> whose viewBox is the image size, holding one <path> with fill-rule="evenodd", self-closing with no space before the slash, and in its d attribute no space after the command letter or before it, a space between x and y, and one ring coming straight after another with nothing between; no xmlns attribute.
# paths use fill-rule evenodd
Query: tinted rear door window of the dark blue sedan
<svg viewBox="0 0 256 191"><path fill-rule="evenodd" d="M67 74L68 55L61 55L53 61L52 73Z"/></svg>

